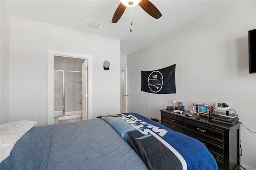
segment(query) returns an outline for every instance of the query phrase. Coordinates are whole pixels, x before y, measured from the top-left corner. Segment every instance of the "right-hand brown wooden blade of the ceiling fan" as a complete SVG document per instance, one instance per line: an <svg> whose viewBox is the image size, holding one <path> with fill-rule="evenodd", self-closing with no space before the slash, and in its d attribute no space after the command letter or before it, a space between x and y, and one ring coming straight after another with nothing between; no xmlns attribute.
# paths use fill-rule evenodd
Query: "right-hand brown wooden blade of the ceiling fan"
<svg viewBox="0 0 256 170"><path fill-rule="evenodd" d="M150 14L152 17L158 19L162 16L161 12L149 0L142 0L139 3L140 7Z"/></svg>

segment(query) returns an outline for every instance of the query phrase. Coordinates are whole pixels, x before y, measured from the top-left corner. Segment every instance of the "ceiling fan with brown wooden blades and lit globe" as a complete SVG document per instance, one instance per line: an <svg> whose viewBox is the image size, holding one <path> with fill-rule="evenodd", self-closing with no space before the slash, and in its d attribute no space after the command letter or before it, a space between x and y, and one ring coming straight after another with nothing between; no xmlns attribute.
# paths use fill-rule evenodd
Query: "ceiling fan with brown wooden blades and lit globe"
<svg viewBox="0 0 256 170"><path fill-rule="evenodd" d="M121 3L116 8L116 12L112 18L112 22L116 23L121 18L126 7L133 7L139 4L139 6L146 11L153 18L160 18L162 14L149 0L120 0Z"/></svg>

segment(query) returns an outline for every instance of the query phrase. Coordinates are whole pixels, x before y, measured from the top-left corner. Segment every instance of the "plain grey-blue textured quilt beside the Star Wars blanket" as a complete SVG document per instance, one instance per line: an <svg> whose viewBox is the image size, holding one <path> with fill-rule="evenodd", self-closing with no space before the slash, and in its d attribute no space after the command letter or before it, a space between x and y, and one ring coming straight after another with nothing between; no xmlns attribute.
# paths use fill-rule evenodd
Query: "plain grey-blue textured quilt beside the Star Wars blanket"
<svg viewBox="0 0 256 170"><path fill-rule="evenodd" d="M108 123L91 119L31 128L1 170L146 170L138 154Z"/></svg>

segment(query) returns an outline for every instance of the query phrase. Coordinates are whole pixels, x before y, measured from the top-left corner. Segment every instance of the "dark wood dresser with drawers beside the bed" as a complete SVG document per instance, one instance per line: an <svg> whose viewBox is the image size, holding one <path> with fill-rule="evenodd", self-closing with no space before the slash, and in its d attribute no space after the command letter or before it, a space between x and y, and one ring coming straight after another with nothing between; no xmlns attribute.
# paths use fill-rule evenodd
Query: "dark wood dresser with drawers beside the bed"
<svg viewBox="0 0 256 170"><path fill-rule="evenodd" d="M161 123L173 130L182 132L188 136L200 140L214 156L219 170L234 170L240 167L240 125L217 123L210 118L201 115L200 120L196 115L192 117L174 113L174 109L160 110Z"/></svg>

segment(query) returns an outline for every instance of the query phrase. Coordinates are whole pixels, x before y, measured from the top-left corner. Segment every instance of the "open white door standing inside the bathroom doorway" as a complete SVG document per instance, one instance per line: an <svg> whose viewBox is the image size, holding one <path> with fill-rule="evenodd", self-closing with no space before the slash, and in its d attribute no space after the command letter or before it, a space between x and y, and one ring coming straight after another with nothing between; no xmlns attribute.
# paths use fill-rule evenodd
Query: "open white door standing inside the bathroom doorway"
<svg viewBox="0 0 256 170"><path fill-rule="evenodd" d="M87 59L82 64L82 119L88 119L88 68Z"/></svg>

